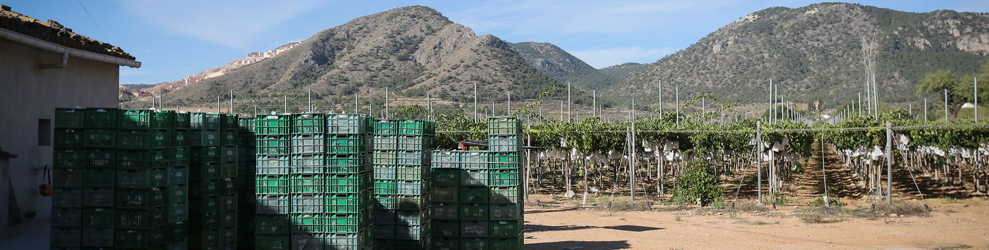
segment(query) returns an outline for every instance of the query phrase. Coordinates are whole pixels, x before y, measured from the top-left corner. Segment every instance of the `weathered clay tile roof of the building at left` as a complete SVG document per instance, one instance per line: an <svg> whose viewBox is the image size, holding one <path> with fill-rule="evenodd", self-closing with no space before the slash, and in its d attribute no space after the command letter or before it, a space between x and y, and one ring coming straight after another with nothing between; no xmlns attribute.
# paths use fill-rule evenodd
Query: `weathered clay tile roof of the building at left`
<svg viewBox="0 0 989 250"><path fill-rule="evenodd" d="M134 60L135 57L119 46L99 42L89 37L72 33L72 29L62 27L58 22L42 22L11 11L10 6L0 5L0 28L20 33L55 44Z"/></svg>

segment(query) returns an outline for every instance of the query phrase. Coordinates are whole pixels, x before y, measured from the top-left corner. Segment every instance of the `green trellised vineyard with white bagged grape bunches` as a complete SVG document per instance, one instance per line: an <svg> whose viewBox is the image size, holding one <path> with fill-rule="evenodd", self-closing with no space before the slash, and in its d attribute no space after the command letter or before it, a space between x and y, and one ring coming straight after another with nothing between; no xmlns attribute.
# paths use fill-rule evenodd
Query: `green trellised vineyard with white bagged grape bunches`
<svg viewBox="0 0 989 250"><path fill-rule="evenodd" d="M878 117L852 114L835 124L795 122L799 120L790 116L778 116L774 123L766 123L770 119L764 116L722 124L717 115L734 112L731 108L668 111L659 118L624 123L602 123L597 117L566 123L523 107L514 115L528 121L524 139L532 147L524 170L527 194L583 197L581 204L587 203L588 193L704 207L740 199L772 203L786 198L784 187L797 182L795 175L834 166L863 194L843 197L838 193L844 188L829 187L829 180L823 180L825 187L814 195L824 201L830 197L827 203L945 196L931 186L960 191L952 192L954 196L985 193L982 163L989 157L989 124L924 123L906 110ZM395 116L419 112L424 109L411 106ZM440 149L454 148L464 139L484 139L483 120L476 123L463 115L434 119ZM811 164L811 158L835 160ZM902 170L906 174L900 175ZM901 192L890 196L891 186Z"/></svg>

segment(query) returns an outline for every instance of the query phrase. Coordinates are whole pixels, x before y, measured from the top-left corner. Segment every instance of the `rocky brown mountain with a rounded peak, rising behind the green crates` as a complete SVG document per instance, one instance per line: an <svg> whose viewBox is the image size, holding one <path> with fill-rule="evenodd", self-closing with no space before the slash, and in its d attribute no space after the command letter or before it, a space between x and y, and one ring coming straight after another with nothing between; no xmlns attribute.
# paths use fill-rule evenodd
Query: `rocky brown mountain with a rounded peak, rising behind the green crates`
<svg viewBox="0 0 989 250"><path fill-rule="evenodd" d="M212 103L232 89L262 106L281 107L283 96L305 99L312 90L316 105L353 107L354 94L382 105L386 88L408 99L428 93L473 103L474 83L481 101L504 100L506 91L513 100L535 98L562 85L526 63L511 43L477 36L422 6L359 17L276 50L156 88L168 90L165 102L176 105Z"/></svg>

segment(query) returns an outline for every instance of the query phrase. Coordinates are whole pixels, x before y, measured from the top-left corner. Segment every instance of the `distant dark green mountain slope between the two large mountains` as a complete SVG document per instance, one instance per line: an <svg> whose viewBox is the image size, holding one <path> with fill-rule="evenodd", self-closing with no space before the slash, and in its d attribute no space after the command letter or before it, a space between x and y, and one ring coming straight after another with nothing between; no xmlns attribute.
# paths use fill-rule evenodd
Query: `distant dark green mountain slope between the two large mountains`
<svg viewBox="0 0 989 250"><path fill-rule="evenodd" d="M560 82L573 82L577 86L602 90L622 77L603 74L573 54L549 42L508 43L525 62Z"/></svg>

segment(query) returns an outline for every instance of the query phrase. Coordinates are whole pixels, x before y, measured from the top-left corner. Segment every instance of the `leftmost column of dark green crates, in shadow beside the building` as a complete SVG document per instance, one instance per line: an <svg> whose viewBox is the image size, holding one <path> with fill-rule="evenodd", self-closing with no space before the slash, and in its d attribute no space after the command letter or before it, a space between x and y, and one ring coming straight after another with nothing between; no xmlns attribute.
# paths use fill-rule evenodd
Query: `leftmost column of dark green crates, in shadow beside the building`
<svg viewBox="0 0 989 250"><path fill-rule="evenodd" d="M86 109L55 109L51 249L82 247L83 172L91 165L86 148L85 121ZM113 206L113 193L110 196L109 205ZM86 229L94 228L87 226Z"/></svg>

